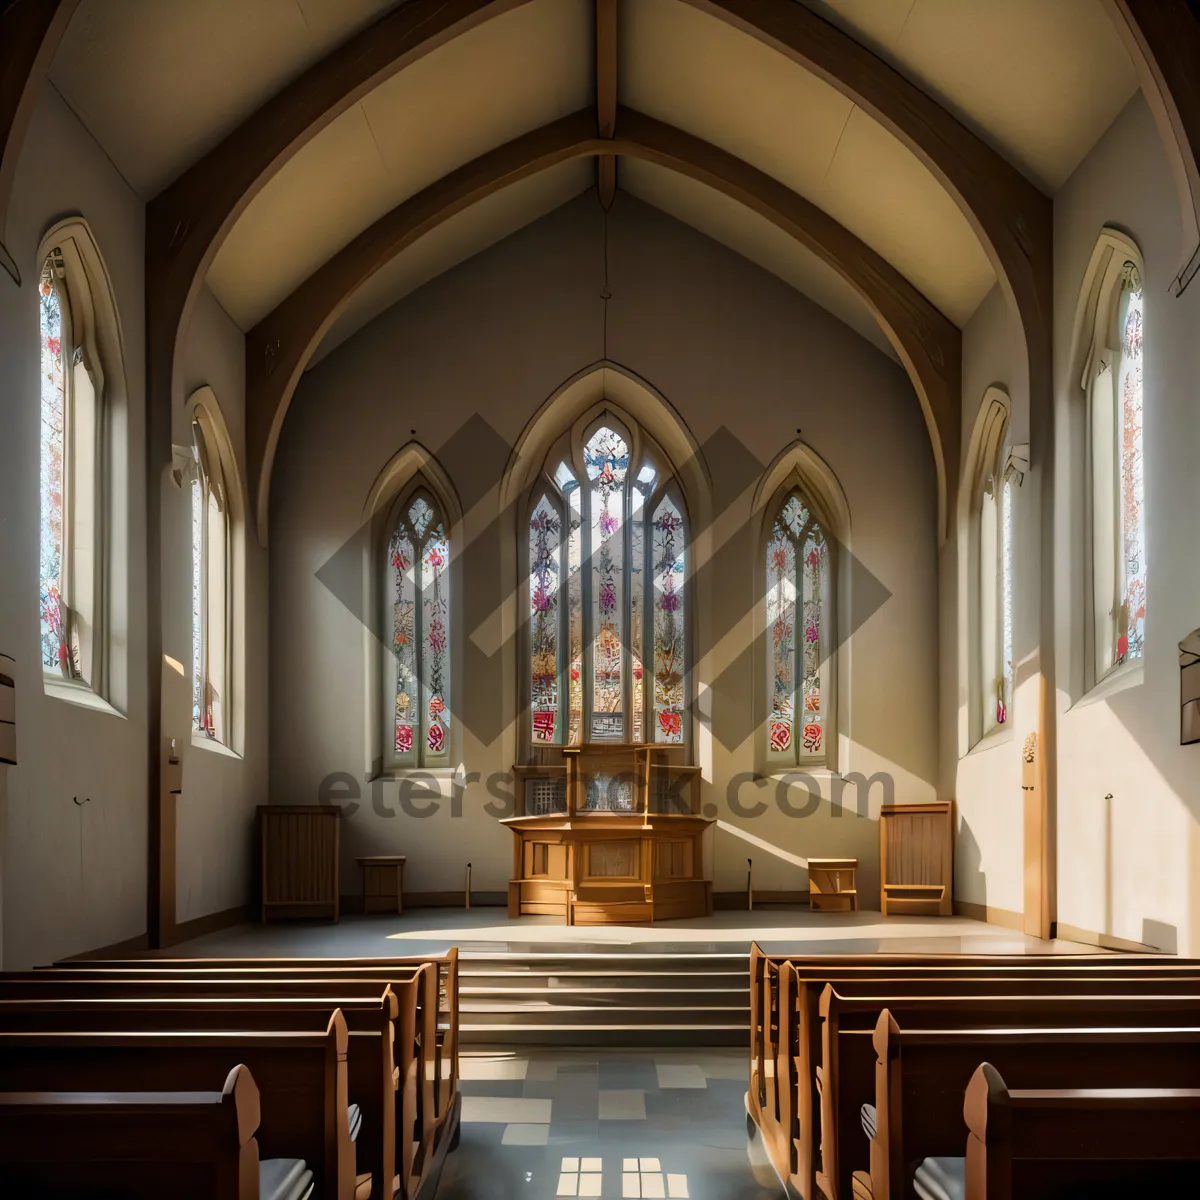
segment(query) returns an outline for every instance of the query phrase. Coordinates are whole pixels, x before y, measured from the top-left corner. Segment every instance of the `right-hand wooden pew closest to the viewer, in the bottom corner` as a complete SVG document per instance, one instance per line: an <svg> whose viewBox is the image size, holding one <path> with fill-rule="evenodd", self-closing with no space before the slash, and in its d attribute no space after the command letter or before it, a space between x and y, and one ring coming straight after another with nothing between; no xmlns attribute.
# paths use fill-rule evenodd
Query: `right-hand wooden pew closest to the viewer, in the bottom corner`
<svg viewBox="0 0 1200 1200"><path fill-rule="evenodd" d="M1200 1088L1009 1091L984 1062L962 1115L966 1200L1200 1194Z"/></svg>

